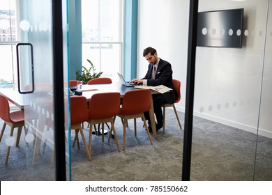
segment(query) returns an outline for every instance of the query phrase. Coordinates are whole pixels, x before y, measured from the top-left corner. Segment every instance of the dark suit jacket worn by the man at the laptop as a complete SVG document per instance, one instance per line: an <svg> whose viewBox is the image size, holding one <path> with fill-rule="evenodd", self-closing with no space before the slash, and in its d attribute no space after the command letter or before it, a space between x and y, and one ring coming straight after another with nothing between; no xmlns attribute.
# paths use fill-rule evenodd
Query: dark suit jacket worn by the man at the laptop
<svg viewBox="0 0 272 195"><path fill-rule="evenodd" d="M152 69L153 65L149 64L149 70L147 70L146 75L142 79L147 79L147 85L148 86L159 86L164 85L169 88L174 88L173 81L172 81L172 67L171 64L167 61L164 61L163 59L160 59L158 63L158 68L156 72L155 79L151 79L152 75ZM171 90L170 93L163 93L163 98L167 101L169 104L173 104L175 102L175 91Z"/></svg>

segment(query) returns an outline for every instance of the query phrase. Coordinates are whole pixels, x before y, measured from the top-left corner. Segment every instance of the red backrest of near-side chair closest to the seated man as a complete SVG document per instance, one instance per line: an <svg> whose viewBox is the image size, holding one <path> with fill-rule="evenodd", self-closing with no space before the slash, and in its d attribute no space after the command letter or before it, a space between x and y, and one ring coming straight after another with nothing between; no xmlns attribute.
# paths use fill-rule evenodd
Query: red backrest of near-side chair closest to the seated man
<svg viewBox="0 0 272 195"><path fill-rule="evenodd" d="M151 91L137 89L123 95L121 114L132 115L148 111L151 108Z"/></svg>

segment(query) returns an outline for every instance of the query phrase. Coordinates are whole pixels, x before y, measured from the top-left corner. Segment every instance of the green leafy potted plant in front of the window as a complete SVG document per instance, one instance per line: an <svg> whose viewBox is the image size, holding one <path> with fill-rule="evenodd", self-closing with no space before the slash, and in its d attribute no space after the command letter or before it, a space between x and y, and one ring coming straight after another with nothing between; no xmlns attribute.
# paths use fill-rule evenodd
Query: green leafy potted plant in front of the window
<svg viewBox="0 0 272 195"><path fill-rule="evenodd" d="M89 70L82 66L82 72L77 71L75 74L77 75L77 80L80 80L83 82L83 84L87 84L89 80L94 79L94 78L99 78L103 72L98 72L96 73L96 68L94 67L93 63L89 59L87 61L90 63L91 67Z"/></svg>

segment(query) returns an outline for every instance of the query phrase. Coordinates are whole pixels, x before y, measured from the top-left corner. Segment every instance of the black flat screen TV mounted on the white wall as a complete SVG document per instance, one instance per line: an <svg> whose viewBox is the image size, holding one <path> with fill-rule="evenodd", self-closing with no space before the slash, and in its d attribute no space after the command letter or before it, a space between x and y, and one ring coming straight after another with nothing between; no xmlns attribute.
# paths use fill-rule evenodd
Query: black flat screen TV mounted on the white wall
<svg viewBox="0 0 272 195"><path fill-rule="evenodd" d="M198 13L197 46L242 47L243 8Z"/></svg>

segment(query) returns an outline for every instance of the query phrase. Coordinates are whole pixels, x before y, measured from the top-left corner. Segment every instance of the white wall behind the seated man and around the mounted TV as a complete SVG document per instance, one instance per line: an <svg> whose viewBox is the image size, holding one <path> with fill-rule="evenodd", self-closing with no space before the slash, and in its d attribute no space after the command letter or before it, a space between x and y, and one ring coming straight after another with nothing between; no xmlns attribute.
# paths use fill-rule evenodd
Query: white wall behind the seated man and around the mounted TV
<svg viewBox="0 0 272 195"><path fill-rule="evenodd" d="M272 137L271 56L266 54L264 60L267 5L268 0L199 0L199 11L244 8L243 31L247 29L249 35L243 35L242 49L197 47L195 116L255 133L259 125L260 134ZM181 80L180 111L186 96L188 16L188 1L139 0L138 77L146 73L142 50L155 47L158 56L172 64L174 78ZM271 51L271 36L270 30L267 51Z"/></svg>

